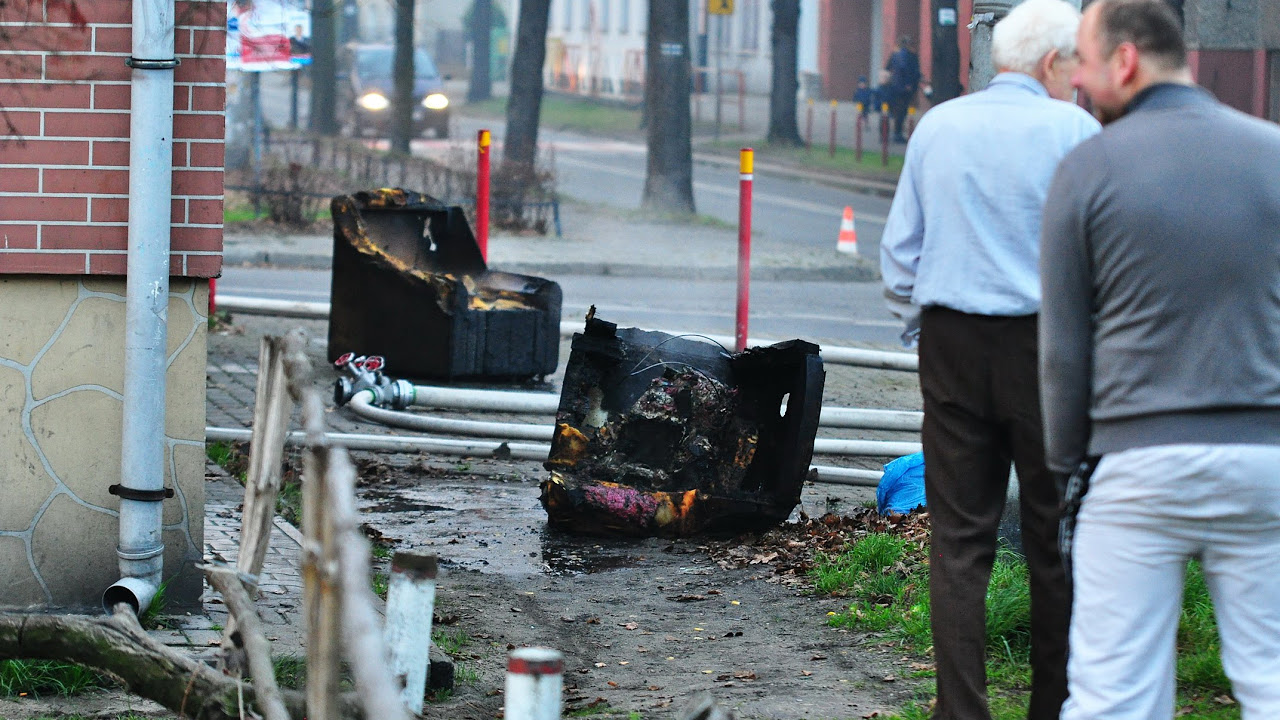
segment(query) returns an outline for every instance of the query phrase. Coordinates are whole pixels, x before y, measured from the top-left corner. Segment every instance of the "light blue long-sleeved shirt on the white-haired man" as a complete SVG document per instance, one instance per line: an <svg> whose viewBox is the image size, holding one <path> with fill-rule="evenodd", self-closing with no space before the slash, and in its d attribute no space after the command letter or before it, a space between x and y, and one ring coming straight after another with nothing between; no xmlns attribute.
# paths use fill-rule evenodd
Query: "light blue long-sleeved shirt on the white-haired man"
<svg viewBox="0 0 1280 720"><path fill-rule="evenodd" d="M1100 129L1023 73L1000 73L986 90L925 113L881 238L888 292L922 307L1038 313L1050 181L1059 160Z"/></svg>

